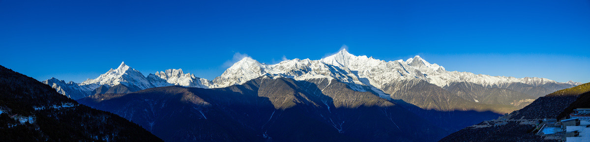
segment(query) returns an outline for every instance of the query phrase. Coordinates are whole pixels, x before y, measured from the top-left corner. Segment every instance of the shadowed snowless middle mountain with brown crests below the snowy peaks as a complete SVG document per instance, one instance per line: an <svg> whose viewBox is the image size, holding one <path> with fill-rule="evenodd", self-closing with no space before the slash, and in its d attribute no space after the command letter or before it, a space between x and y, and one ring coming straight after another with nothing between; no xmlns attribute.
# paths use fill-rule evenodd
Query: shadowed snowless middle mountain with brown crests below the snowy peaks
<svg viewBox="0 0 590 142"><path fill-rule="evenodd" d="M315 82L262 76L219 89L156 87L78 102L171 141L434 141L448 133L371 92Z"/></svg>

